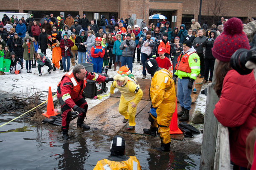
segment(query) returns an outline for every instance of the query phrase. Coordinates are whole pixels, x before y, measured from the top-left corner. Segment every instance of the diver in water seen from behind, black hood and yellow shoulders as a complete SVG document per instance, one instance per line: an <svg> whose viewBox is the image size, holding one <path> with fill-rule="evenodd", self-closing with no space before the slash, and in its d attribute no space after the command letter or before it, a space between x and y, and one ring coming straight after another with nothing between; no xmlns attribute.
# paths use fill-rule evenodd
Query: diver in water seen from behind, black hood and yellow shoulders
<svg viewBox="0 0 256 170"><path fill-rule="evenodd" d="M135 156L125 155L125 139L122 136L113 137L110 152L108 159L98 161L93 170L141 170L140 162Z"/></svg>

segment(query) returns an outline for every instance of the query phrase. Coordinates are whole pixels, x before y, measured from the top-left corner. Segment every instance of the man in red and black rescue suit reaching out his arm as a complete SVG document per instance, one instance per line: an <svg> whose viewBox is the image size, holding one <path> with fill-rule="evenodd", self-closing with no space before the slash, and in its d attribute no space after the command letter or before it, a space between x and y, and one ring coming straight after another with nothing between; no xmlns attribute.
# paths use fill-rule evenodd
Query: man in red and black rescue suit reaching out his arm
<svg viewBox="0 0 256 170"><path fill-rule="evenodd" d="M112 77L105 77L93 72L86 71L83 65L76 65L73 71L67 72L58 83L57 97L61 105L61 130L63 138L67 140L68 128L70 124L71 108L79 113L77 119L77 127L89 130L90 126L84 124L84 117L87 112L87 102L82 95L86 86L86 80L94 80L97 82L113 81Z"/></svg>

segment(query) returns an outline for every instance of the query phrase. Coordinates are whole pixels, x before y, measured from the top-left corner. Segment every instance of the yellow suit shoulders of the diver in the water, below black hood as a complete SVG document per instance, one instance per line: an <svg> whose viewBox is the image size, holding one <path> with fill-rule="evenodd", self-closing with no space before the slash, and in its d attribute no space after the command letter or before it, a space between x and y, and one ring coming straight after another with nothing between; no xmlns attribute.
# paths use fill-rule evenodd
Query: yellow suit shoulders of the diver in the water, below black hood
<svg viewBox="0 0 256 170"><path fill-rule="evenodd" d="M129 156L126 161L110 161L102 159L97 162L93 170L141 170L140 162L135 156Z"/></svg>

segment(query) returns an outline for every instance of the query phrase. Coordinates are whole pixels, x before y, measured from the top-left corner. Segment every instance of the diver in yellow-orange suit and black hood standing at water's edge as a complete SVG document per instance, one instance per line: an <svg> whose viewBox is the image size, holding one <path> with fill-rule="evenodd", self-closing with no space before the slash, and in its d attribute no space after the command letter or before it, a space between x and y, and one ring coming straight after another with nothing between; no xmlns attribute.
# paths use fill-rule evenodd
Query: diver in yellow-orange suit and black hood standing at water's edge
<svg viewBox="0 0 256 170"><path fill-rule="evenodd" d="M169 125L176 101L172 74L165 68L158 67L155 59L148 59L145 67L152 77L149 89L151 108L148 117L151 125L149 129L143 129L143 131L151 136L156 136L157 132L161 139L161 147L156 149L169 151L171 144Z"/></svg>

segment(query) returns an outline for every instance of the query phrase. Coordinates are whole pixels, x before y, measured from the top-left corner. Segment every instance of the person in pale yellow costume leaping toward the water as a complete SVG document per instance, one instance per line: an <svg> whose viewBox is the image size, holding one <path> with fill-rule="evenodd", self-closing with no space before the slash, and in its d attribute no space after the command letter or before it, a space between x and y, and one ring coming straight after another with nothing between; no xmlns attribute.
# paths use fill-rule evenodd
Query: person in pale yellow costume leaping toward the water
<svg viewBox="0 0 256 170"><path fill-rule="evenodd" d="M110 94L114 94L115 88L118 88L121 92L122 95L118 111L121 115L125 116L122 120L123 123L126 123L129 119L128 130L132 130L136 125L135 114L137 104L143 96L143 91L140 89L140 86L136 84L133 75L130 74L129 68L126 68L125 65L119 69L118 73L119 74L116 74L110 86Z"/></svg>

